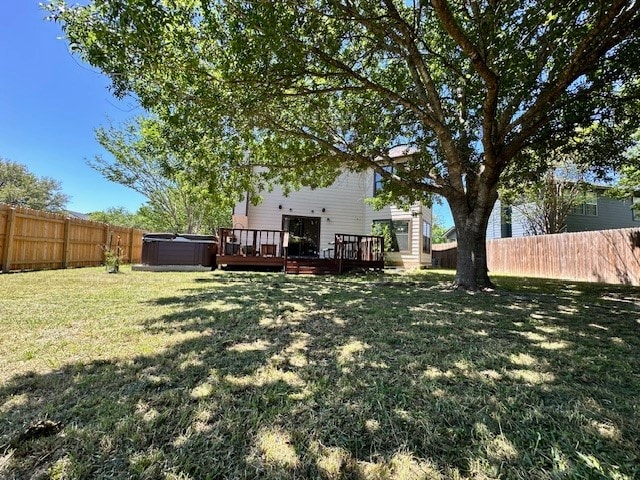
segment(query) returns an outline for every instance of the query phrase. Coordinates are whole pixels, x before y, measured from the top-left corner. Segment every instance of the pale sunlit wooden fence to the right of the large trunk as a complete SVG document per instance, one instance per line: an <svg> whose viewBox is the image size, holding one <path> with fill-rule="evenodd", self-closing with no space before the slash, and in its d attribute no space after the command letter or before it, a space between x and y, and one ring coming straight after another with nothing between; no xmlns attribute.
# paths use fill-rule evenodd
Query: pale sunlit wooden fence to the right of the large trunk
<svg viewBox="0 0 640 480"><path fill-rule="evenodd" d="M433 258L455 268L455 244L434 245ZM640 285L640 228L489 240L487 263L494 273Z"/></svg>

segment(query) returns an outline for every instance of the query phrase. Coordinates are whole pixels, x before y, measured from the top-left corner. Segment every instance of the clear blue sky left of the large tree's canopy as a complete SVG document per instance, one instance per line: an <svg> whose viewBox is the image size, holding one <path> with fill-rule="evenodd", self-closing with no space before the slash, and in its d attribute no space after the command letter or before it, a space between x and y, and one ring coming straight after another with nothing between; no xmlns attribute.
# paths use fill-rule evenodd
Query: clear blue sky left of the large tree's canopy
<svg viewBox="0 0 640 480"><path fill-rule="evenodd" d="M107 181L87 162L109 154L95 129L144 114L132 99L119 101L109 80L69 52L58 24L47 21L42 0L8 0L0 28L0 157L61 183L67 209L90 213L112 207L135 212L145 198ZM453 225L446 205L440 223Z"/></svg>

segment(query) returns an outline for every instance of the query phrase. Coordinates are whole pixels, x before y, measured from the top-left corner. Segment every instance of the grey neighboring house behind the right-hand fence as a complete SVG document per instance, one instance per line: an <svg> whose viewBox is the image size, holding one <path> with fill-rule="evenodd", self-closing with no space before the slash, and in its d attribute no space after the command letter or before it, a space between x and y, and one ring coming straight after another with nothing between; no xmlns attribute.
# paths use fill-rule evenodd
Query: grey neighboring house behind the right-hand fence
<svg viewBox="0 0 640 480"><path fill-rule="evenodd" d="M633 210L632 199L607 197L605 187L585 194L567 217L566 232L585 232L640 227L640 212ZM633 201L638 201L634 198ZM516 207L503 206L498 200L489 217L487 239L527 236L526 223Z"/></svg>

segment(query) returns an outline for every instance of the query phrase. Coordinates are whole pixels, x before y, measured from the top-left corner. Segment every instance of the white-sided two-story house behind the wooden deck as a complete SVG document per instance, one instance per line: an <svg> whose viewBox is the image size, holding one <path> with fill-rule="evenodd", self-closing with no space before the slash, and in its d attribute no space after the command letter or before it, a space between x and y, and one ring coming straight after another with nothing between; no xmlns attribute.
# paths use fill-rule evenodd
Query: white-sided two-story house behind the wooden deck
<svg viewBox="0 0 640 480"><path fill-rule="evenodd" d="M405 150L390 152L401 161ZM245 199L233 210L233 228L284 230L290 238L302 240L289 246L289 255L329 258L336 234L391 234L391 248L385 246L385 263L404 267L431 265L431 208L414 204L409 211L394 206L374 210L366 199L375 195L379 175L373 170L345 172L326 188L304 187L285 196L280 188L262 192L263 201L251 205ZM377 227L376 227L377 225Z"/></svg>

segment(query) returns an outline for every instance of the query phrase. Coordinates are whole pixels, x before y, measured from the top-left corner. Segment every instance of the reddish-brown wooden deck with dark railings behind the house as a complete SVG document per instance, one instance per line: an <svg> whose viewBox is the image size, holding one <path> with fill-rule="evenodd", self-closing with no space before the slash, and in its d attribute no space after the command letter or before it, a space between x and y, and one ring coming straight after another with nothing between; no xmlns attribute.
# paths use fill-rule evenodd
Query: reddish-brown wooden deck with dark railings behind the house
<svg viewBox="0 0 640 480"><path fill-rule="evenodd" d="M371 235L336 234L332 248L315 255L289 255L288 232L223 228L216 265L243 270L278 270L301 274L338 274L384 268L384 240Z"/></svg>

